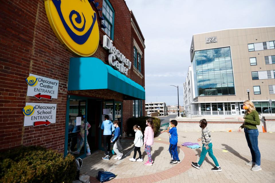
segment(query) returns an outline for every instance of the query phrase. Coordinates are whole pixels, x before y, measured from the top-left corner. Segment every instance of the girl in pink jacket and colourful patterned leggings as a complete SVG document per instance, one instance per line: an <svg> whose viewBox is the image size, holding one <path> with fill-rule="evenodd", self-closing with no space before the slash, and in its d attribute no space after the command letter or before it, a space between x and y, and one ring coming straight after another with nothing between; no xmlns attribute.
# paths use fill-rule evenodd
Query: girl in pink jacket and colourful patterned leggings
<svg viewBox="0 0 275 183"><path fill-rule="evenodd" d="M147 127L144 131L144 146L145 152L148 155L148 161L144 163L144 165L152 166L152 155L151 155L151 146L154 144L154 123L153 119L149 118L146 120Z"/></svg>

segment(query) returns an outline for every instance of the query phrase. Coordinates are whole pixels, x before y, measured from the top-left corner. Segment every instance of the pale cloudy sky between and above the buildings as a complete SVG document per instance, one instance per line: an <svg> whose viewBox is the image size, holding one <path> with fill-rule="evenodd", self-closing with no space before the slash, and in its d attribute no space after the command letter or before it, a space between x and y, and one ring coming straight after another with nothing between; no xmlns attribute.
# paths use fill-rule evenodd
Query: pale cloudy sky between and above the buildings
<svg viewBox="0 0 275 183"><path fill-rule="evenodd" d="M275 26L274 0L125 0L145 38L146 102L184 105L192 35Z"/></svg>

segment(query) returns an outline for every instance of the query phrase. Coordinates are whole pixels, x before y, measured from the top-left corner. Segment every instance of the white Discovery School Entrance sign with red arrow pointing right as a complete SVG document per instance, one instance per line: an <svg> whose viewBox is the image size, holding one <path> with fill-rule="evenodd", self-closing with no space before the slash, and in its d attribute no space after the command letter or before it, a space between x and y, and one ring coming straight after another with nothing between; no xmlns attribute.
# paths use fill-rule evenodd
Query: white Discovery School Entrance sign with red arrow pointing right
<svg viewBox="0 0 275 183"><path fill-rule="evenodd" d="M26 103L24 126L48 126L56 122L56 104Z"/></svg>

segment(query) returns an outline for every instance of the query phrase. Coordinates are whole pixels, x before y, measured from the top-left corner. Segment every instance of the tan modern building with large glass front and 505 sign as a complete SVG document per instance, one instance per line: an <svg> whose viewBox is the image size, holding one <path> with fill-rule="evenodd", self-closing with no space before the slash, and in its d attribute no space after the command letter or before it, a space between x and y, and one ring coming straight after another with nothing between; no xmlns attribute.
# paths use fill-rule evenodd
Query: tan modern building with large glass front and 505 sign
<svg viewBox="0 0 275 183"><path fill-rule="evenodd" d="M204 115L241 115L243 101L250 98L259 114L275 113L274 41L275 27L194 34L192 110Z"/></svg>

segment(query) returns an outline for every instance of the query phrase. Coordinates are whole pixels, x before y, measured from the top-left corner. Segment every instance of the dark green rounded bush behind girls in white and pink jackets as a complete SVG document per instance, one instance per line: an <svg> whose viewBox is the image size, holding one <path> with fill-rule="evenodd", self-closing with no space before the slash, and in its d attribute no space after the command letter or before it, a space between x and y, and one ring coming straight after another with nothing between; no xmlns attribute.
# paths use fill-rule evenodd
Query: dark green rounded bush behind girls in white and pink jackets
<svg viewBox="0 0 275 183"><path fill-rule="evenodd" d="M138 118L130 118L127 122L127 128L128 128L128 134L134 134L135 132L133 131L133 126L138 125L141 128L142 133L144 133L144 130L146 128L146 120L151 117L148 116L142 116ZM160 129L160 119L159 118L153 118L153 123L154 123L154 136L158 133L158 130Z"/></svg>

